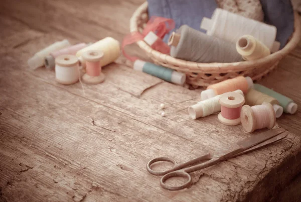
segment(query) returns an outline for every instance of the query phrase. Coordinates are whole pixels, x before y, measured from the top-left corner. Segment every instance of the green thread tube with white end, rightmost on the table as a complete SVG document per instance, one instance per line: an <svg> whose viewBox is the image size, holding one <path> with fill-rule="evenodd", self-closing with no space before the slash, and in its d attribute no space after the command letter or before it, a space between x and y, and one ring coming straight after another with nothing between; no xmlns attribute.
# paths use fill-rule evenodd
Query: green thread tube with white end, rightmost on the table
<svg viewBox="0 0 301 202"><path fill-rule="evenodd" d="M260 84L254 84L254 89L273 98L276 98L280 106L283 107L285 113L294 114L297 111L298 105L294 103L292 99Z"/></svg>

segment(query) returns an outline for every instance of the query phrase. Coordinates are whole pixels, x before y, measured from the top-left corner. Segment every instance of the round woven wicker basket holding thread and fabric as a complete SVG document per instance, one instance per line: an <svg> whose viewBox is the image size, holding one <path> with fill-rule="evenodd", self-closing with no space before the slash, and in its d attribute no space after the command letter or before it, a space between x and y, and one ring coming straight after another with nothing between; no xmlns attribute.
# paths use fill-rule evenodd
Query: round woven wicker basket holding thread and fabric
<svg viewBox="0 0 301 202"><path fill-rule="evenodd" d="M148 21L147 6L148 4L145 2L134 12L130 19L130 32L142 32L142 29ZM280 51L256 61L196 63L162 54L149 47L144 41L138 41L137 45L146 52L154 63L186 73L186 81L193 87L209 86L239 75L249 76L253 80L259 80L272 71L278 65L279 61L298 44L300 38L299 16L296 13L294 15L294 33L286 46Z"/></svg>

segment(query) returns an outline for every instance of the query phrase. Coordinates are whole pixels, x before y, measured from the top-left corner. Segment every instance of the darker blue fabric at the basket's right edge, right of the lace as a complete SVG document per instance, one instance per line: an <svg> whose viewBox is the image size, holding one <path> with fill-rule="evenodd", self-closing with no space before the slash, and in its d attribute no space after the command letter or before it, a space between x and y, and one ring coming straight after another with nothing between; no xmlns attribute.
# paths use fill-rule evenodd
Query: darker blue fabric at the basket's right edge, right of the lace
<svg viewBox="0 0 301 202"><path fill-rule="evenodd" d="M283 48L293 33L294 16L289 0L260 0L264 12L264 21L277 28L276 41Z"/></svg>

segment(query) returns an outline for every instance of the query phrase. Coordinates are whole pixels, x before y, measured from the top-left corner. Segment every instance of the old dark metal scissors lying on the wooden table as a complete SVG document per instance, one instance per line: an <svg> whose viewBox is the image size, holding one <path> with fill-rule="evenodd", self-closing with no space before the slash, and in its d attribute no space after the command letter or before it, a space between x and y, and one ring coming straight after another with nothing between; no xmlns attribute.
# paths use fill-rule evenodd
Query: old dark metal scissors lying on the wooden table
<svg viewBox="0 0 301 202"><path fill-rule="evenodd" d="M280 139L283 139L287 136L287 132L283 128L277 128L268 130L256 135L251 135L250 137L238 141L236 144L233 144L230 149L217 151L215 153L207 153L205 155L193 158L185 163L178 164L174 159L168 157L159 157L150 160L146 169L150 174L154 175L164 175L160 180L160 185L168 190L180 190L187 188L191 185L191 176L190 172L201 170L203 168L209 167L211 165L217 164L220 161L233 158L235 156L247 153L249 151L261 148L267 144L276 142ZM201 162L204 161L205 162ZM151 168L152 164L159 161L167 161L174 164L174 167L166 171L155 171ZM196 164L201 162L199 164ZM172 177L183 177L187 181L184 184L179 186L172 186L166 184L166 180Z"/></svg>

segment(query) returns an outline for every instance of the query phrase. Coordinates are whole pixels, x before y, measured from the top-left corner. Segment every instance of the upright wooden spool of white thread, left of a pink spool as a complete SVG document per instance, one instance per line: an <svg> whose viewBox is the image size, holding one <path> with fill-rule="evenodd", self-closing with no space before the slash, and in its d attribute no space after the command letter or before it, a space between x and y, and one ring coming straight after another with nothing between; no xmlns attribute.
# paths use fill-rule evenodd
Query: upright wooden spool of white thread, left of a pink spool
<svg viewBox="0 0 301 202"><path fill-rule="evenodd" d="M61 55L55 59L55 78L60 84L70 85L79 80L79 62L74 55Z"/></svg>

